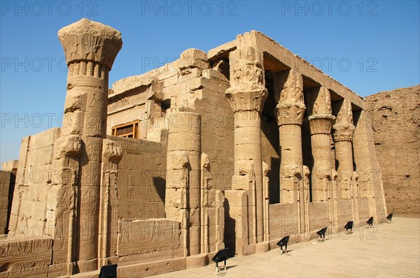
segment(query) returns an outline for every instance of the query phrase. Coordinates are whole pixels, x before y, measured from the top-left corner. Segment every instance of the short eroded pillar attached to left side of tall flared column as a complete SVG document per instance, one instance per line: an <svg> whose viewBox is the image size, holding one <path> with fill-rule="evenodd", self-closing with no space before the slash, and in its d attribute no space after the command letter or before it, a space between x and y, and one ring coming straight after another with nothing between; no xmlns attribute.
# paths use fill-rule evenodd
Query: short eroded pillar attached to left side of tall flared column
<svg viewBox="0 0 420 278"><path fill-rule="evenodd" d="M61 136L54 142L55 170L47 199L45 234L54 238L51 275L72 275L75 260L73 247L77 216L79 156L82 139L78 135ZM57 272L55 272L55 271Z"/></svg>

